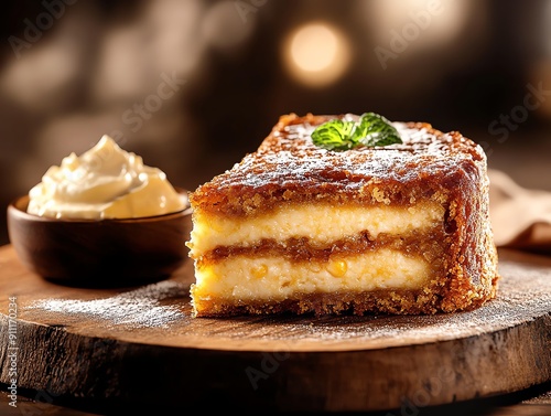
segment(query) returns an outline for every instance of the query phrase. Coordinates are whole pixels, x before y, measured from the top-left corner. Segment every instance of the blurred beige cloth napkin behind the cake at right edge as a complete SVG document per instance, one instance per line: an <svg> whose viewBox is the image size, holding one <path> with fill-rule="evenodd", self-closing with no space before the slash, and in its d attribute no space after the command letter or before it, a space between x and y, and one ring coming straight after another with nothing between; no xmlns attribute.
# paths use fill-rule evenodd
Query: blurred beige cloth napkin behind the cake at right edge
<svg viewBox="0 0 551 416"><path fill-rule="evenodd" d="M551 255L551 192L522 188L500 170L488 177L496 245Z"/></svg>

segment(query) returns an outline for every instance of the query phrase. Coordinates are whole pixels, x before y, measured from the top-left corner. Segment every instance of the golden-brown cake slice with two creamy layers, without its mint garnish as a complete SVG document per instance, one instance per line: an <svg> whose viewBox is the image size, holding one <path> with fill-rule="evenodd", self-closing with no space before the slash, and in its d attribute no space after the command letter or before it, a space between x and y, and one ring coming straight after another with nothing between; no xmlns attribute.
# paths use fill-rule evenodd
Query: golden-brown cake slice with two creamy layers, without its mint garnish
<svg viewBox="0 0 551 416"><path fill-rule="evenodd" d="M194 316L436 313L494 298L482 148L392 122L401 142L327 150L312 132L331 120L359 116L282 116L191 194Z"/></svg>

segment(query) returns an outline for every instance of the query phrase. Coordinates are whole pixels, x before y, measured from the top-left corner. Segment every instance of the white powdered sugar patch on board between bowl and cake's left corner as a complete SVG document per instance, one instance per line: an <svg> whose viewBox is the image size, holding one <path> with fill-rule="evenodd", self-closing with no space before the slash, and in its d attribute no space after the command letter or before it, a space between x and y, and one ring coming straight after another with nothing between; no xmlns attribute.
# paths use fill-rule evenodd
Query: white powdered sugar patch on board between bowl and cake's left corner
<svg viewBox="0 0 551 416"><path fill-rule="evenodd" d="M168 328L170 322L182 319L183 312L162 301L182 296L184 289L182 284L166 280L104 299L43 299L28 309L101 319L110 327Z"/></svg>

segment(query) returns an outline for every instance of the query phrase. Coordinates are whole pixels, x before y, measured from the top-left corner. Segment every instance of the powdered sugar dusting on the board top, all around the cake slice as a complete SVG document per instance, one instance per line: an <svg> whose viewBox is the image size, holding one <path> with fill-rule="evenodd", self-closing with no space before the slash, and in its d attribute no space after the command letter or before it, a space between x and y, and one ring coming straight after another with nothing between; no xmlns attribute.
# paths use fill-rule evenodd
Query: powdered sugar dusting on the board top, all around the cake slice
<svg viewBox="0 0 551 416"><path fill-rule="evenodd" d="M500 260L500 273L495 300L473 311L450 314L192 318L188 286L168 280L102 299L37 300L25 307L25 318L46 324L85 323L86 331L97 322L126 340L138 339L147 330L155 343L174 346L336 351L476 337L551 312L551 259L525 263L512 255ZM127 337L129 329L136 337Z"/></svg>

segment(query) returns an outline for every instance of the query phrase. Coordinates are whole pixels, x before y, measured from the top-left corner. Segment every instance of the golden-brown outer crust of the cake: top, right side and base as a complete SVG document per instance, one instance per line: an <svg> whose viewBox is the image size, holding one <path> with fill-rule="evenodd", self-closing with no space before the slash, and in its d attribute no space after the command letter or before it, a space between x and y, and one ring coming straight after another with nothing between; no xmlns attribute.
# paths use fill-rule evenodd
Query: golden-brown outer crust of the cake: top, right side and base
<svg viewBox="0 0 551 416"><path fill-rule="evenodd" d="M318 314L455 312L479 307L496 296L497 250L482 148L458 132L444 134L423 122L395 124L402 145L344 152L315 147L310 132L335 117L357 116L282 116L258 151L192 193L194 211L245 220L291 202L329 201L338 206L437 201L446 210L439 238L443 247L439 276L422 292L310 294L284 302L247 305L216 297L196 299L196 316L285 310ZM220 249L231 253L228 247ZM201 267L201 259L195 264Z"/></svg>

